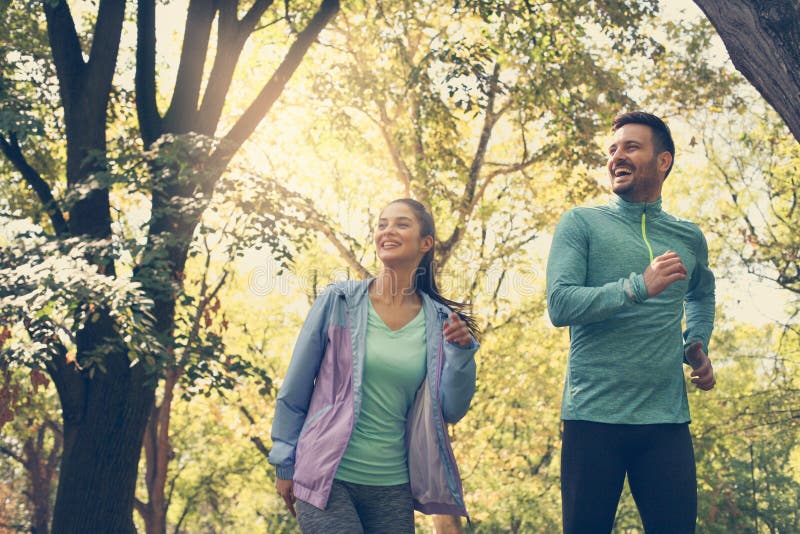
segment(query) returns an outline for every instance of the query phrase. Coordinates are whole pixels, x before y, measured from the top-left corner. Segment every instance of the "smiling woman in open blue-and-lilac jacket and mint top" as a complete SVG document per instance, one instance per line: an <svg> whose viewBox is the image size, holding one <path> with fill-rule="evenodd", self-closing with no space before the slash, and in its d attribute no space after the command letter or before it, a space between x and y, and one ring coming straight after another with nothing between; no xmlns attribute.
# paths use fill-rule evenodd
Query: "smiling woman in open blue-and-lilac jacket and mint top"
<svg viewBox="0 0 800 534"><path fill-rule="evenodd" d="M306 318L269 456L306 534L414 532L415 508L467 515L445 424L469 409L477 328L438 292L434 241L422 204L392 202L375 231L381 272L328 286Z"/></svg>

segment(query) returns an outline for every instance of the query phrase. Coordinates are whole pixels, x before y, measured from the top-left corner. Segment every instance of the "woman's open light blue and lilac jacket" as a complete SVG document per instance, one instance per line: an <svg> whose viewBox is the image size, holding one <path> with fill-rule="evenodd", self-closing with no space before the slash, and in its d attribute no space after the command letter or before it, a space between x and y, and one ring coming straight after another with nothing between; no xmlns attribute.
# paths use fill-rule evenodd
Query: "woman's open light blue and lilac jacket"
<svg viewBox="0 0 800 534"><path fill-rule="evenodd" d="M269 462L294 494L325 508L336 470L361 408L372 280L338 282L316 299L278 393ZM475 392L475 352L445 342L450 309L422 293L427 339L425 380L406 424L409 482L414 507L426 514L466 516L458 467L446 423L469 409Z"/></svg>

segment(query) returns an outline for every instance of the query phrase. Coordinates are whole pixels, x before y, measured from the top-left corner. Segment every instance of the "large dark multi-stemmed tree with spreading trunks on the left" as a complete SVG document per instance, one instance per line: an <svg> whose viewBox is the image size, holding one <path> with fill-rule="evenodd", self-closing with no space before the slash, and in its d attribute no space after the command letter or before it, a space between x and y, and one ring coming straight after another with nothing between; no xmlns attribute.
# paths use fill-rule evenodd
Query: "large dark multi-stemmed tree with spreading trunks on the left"
<svg viewBox="0 0 800 534"><path fill-rule="evenodd" d="M249 6L233 1L191 0L177 79L170 104L162 113L157 92L156 2L137 3L135 102L145 148L181 147L180 136L189 132L205 138L218 135L237 61L272 4L268 0L255 0ZM121 0L101 0L93 31L83 36L66 1L44 2L41 7L63 112L63 176L43 175L26 156L36 144L30 110L12 110L12 118L4 117L0 124L3 154L33 189L48 215L50 231L42 234L42 239L61 243L61 248L54 245L49 253L58 257L64 247L84 245L79 256L94 266L97 275L112 280L110 285L127 276L118 271L118 258L109 254L114 235L109 200L114 177L108 161L107 128L125 7L126 2ZM8 302L4 302L4 314L14 318L16 324L25 324L31 339L45 349L30 356L46 366L63 410L64 449L54 530L133 531L131 514L142 436L154 403L158 369L170 363L171 348L180 345L174 338L176 298L195 228L227 164L269 112L339 4L323 0L316 9L301 6L290 11L288 3L285 8L284 13L274 9L274 18L286 23L293 42L251 105L239 117L228 119L232 126L220 141L195 143L183 152L187 159L179 164L175 159L155 157L137 169L151 209L146 242L134 251L130 279L135 289L129 294L136 293L141 306L132 302L125 306L128 310L136 308L131 318L149 342L131 336L127 327L132 323L120 324L118 310L103 298L101 290L71 295L74 301L67 308L75 320L68 328L60 328L59 322L40 310L31 317L23 306L7 308ZM306 16L309 9L313 16ZM215 21L215 59L203 86ZM304 24L302 30L296 29L298 23ZM4 43L4 52L10 48L12 43ZM36 55L25 49L16 52L23 57ZM17 73L17 79L24 76L24 72ZM203 92L201 87L205 87ZM14 87L3 89L13 92ZM24 101L20 95L14 100ZM162 145L154 145L159 139ZM62 197L54 191L62 191ZM41 263L40 252L35 256ZM22 256L16 258L20 261L17 266L30 265L20 259ZM12 266L13 259L5 257L3 267ZM17 282L7 289L18 292L18 296L19 292L25 294L21 282ZM59 291L63 286L54 289ZM29 284L28 294L32 291ZM63 341L64 334L74 343L74 353ZM95 372L98 368L102 372Z"/></svg>

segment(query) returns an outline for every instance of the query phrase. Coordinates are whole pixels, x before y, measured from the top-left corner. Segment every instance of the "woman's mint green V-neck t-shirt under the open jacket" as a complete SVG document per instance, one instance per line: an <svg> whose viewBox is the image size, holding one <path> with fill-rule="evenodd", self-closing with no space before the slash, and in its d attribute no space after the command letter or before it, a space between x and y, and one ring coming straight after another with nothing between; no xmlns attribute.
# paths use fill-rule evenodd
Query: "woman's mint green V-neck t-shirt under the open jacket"
<svg viewBox="0 0 800 534"><path fill-rule="evenodd" d="M406 416L425 379L425 313L391 330L369 303L361 412L336 478L355 484L408 482Z"/></svg>

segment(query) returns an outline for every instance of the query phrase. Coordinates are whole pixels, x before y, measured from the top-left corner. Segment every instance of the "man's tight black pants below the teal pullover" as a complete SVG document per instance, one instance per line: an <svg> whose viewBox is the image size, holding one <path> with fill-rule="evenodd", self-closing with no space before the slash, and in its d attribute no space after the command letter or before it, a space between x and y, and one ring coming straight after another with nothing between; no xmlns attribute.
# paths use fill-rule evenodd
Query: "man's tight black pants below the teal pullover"
<svg viewBox="0 0 800 534"><path fill-rule="evenodd" d="M688 423L564 421L564 533L610 532L626 473L647 534L694 532L697 477Z"/></svg>

